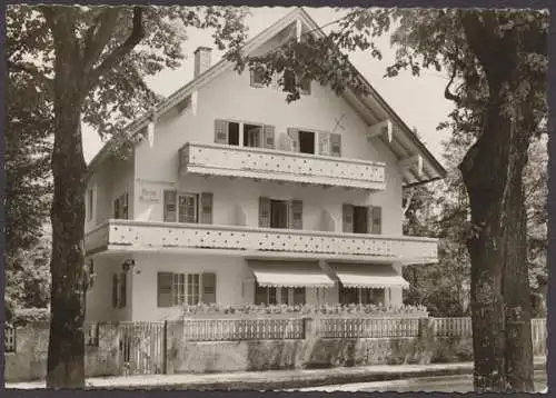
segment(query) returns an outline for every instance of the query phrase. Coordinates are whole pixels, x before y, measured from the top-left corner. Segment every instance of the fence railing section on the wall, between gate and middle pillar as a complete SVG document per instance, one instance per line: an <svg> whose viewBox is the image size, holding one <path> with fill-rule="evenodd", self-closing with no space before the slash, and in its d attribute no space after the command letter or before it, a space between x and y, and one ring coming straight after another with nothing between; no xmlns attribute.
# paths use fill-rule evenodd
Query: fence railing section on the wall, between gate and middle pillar
<svg viewBox="0 0 556 398"><path fill-rule="evenodd" d="M289 319L186 319L188 341L304 339L302 318Z"/></svg>

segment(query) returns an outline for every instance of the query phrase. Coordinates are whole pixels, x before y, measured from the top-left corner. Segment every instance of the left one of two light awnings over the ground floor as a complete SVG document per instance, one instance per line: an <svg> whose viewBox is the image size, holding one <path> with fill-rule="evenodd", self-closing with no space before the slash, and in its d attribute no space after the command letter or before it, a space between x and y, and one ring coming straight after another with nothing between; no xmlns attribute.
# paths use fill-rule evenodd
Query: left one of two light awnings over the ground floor
<svg viewBox="0 0 556 398"><path fill-rule="evenodd" d="M330 288L334 286L318 262L248 260L257 282L262 287Z"/></svg>

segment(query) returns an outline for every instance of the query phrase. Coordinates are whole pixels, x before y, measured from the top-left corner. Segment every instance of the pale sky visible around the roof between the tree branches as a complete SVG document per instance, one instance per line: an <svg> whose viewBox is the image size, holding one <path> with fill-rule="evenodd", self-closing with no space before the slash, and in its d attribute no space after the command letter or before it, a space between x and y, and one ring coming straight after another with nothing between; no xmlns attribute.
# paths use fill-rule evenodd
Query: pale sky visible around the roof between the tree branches
<svg viewBox="0 0 556 398"><path fill-rule="evenodd" d="M249 27L249 39L291 10L292 8L284 7L250 8L251 16L246 20ZM305 10L319 27L337 20L340 16L331 8L306 7ZM324 30L326 32L331 28L334 26L329 26ZM193 77L193 51L200 46L214 48L212 63L218 62L222 57L222 52L215 48L210 34L210 31L188 30L188 40L182 44L186 54L182 66L150 77L147 79L149 87L153 91L168 97L188 83ZM403 72L395 78L384 78L386 68L394 61L395 49L390 48L388 36L378 38L375 42L383 51L383 60L378 61L368 52L359 51L349 54L351 62L401 117L406 125L418 130L427 148L444 163L440 142L447 138L447 132L439 132L436 127L439 122L445 121L448 113L454 109L453 105L444 98L447 77L444 72L435 70L424 71L420 77L413 77L409 72ZM85 159L89 162L102 148L103 142L98 133L89 127L83 126L82 131Z"/></svg>

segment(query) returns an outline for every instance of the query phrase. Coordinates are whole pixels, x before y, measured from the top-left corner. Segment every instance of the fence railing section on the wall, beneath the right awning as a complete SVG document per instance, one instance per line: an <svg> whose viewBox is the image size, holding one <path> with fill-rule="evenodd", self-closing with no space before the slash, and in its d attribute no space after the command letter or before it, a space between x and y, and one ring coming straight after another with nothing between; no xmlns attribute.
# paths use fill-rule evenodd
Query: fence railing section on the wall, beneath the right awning
<svg viewBox="0 0 556 398"><path fill-rule="evenodd" d="M321 338L395 338L419 336L419 319L317 318Z"/></svg>

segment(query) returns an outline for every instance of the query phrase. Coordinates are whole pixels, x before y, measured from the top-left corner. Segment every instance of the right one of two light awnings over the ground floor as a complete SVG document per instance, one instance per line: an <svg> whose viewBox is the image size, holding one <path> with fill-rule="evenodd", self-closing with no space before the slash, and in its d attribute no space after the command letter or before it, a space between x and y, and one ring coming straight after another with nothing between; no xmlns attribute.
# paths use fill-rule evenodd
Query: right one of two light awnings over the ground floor
<svg viewBox="0 0 556 398"><path fill-rule="evenodd" d="M336 262L329 266L346 288L409 287L409 282L389 265Z"/></svg>

